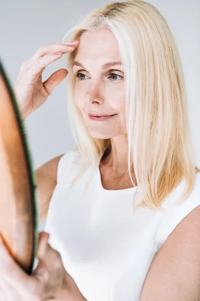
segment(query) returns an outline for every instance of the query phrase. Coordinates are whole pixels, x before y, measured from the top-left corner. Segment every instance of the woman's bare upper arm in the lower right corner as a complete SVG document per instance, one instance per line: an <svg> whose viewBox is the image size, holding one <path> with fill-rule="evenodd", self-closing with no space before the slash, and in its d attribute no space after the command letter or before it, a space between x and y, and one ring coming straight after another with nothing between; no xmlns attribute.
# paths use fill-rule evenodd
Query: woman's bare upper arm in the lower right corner
<svg viewBox="0 0 200 301"><path fill-rule="evenodd" d="M156 253L140 300L200 300L200 205L179 222Z"/></svg>

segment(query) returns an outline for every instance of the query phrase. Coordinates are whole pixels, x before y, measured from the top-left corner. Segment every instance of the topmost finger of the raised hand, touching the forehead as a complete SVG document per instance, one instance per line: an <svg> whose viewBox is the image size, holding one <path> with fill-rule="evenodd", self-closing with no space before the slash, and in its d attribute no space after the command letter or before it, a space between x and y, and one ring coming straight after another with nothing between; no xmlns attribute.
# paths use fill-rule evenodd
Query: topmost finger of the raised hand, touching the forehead
<svg viewBox="0 0 200 301"><path fill-rule="evenodd" d="M53 54L57 51L62 51L63 53L73 51L78 46L78 44L79 42L63 42L42 45L32 56L32 60L35 61L36 59L46 54ZM74 47L70 47L69 45L73 45Z"/></svg>

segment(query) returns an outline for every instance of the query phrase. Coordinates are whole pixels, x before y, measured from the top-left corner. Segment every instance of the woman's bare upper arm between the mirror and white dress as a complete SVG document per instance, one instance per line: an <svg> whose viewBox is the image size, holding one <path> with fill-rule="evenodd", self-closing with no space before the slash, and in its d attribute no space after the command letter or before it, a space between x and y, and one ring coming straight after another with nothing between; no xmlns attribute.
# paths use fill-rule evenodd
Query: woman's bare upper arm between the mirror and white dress
<svg viewBox="0 0 200 301"><path fill-rule="evenodd" d="M34 171L38 195L39 222L47 216L48 206L56 186L57 167L64 154L52 158Z"/></svg>

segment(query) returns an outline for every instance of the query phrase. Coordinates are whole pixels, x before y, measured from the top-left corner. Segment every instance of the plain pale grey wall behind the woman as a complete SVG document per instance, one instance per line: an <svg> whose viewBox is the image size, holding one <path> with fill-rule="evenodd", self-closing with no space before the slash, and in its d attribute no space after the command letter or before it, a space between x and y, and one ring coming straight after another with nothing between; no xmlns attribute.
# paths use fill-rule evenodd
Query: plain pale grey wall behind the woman
<svg viewBox="0 0 200 301"><path fill-rule="evenodd" d="M6 0L0 2L0 57L12 86L20 65L39 46L61 42L67 30L94 8L113 1L92 0ZM122 1L120 1L122 2ZM166 18L173 33L183 66L188 114L196 165L200 167L200 101L199 101L199 0L149 1ZM65 56L47 66L46 80L54 71L65 68ZM67 122L65 79L46 102L24 121L34 170L51 158L74 146ZM45 221L39 225L41 230Z"/></svg>

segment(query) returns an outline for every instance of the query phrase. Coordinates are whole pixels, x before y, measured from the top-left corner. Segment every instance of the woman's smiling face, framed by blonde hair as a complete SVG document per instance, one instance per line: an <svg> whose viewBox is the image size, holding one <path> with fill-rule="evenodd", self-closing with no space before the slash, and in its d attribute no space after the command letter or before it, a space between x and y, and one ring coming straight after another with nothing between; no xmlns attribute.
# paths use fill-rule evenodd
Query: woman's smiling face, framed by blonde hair
<svg viewBox="0 0 200 301"><path fill-rule="evenodd" d="M111 31L87 31L80 37L73 65L77 76L73 97L94 138L126 133L123 66L103 66L119 61L118 44Z"/></svg>

